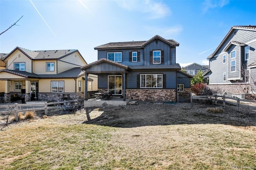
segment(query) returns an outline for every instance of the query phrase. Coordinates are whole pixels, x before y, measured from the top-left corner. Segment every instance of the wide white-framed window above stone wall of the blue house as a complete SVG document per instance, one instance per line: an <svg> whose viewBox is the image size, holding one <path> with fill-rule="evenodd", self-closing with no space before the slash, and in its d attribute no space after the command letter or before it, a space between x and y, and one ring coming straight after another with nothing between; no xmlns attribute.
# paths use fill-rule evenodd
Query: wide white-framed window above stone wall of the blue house
<svg viewBox="0 0 256 170"><path fill-rule="evenodd" d="M162 74L141 74L140 88L162 88L163 75Z"/></svg>

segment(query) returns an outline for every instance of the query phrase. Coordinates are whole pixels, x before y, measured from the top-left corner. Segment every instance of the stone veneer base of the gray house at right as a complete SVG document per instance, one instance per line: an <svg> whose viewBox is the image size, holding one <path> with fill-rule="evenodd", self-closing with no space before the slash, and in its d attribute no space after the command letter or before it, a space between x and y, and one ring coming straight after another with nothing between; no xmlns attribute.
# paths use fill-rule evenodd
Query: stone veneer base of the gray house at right
<svg viewBox="0 0 256 170"><path fill-rule="evenodd" d="M228 93L234 95L241 95L242 93L250 93L249 84L233 84L233 85L207 85L213 91L218 93Z"/></svg>

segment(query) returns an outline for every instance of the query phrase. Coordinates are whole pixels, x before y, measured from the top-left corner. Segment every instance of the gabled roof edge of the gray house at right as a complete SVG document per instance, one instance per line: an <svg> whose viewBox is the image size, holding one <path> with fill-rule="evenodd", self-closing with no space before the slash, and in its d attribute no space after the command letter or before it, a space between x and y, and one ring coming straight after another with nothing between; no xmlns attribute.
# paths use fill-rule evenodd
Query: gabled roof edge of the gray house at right
<svg viewBox="0 0 256 170"><path fill-rule="evenodd" d="M224 39L222 40L222 42L220 42L220 44L218 45L218 47L215 49L215 51L209 55L207 57L207 59L211 59L212 57L214 57L216 55L216 53L218 52L218 50L220 49L220 47L224 44L224 42L228 39L228 37L230 36L230 34L232 34L233 30L249 30L249 31L256 31L256 26L232 26L231 29L229 30L228 34L224 37ZM234 44L236 44L234 42Z"/></svg>

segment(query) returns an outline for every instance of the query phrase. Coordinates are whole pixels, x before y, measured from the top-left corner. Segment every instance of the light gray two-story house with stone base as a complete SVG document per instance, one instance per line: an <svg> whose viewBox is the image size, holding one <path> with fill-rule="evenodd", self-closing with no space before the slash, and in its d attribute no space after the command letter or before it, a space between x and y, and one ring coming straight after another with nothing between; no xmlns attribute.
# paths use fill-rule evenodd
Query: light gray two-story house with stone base
<svg viewBox="0 0 256 170"><path fill-rule="evenodd" d="M209 88L241 95L255 92L256 26L232 26L215 51L207 57Z"/></svg>

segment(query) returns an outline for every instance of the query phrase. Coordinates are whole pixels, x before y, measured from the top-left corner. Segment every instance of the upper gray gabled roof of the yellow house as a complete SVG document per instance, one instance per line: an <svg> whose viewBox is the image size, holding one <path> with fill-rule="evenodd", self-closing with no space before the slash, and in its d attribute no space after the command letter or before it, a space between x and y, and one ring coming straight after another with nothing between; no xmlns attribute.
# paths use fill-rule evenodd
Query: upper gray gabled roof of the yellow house
<svg viewBox="0 0 256 170"><path fill-rule="evenodd" d="M16 49L20 50L22 53L24 53L24 55L26 55L31 60L61 59L63 57L66 57L67 55L70 55L75 52L78 52L81 55L81 53L77 49L31 51L29 49L16 47L4 59L7 59L12 53L14 53L14 51L16 51ZM81 55L81 57L82 57L82 55ZM83 57L82 57L82 59L84 60ZM86 63L86 61L85 61L85 63Z"/></svg>

